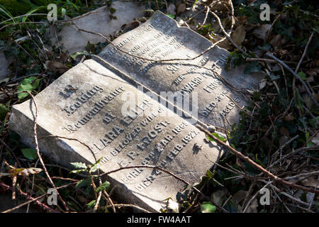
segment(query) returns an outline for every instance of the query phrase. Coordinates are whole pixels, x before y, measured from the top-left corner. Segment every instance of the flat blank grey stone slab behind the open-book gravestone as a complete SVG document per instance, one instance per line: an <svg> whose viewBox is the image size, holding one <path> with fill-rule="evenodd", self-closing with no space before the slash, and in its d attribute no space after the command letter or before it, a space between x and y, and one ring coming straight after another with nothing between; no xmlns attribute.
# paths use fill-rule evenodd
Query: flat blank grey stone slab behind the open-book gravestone
<svg viewBox="0 0 319 227"><path fill-rule="evenodd" d="M73 22L79 27L86 31L94 33L101 33L103 35L113 35L118 31L121 26L125 23L130 23L134 18L140 18L143 16L143 10L145 7L139 5L136 2L128 1L115 1L112 6L116 9L116 12L111 14L108 6L102 6L99 9L91 11L88 16L86 14L74 18ZM110 18L110 16L116 16L116 20ZM88 43L104 43L106 40L99 35L86 33L79 31L72 23L65 23L62 26L62 30L57 33L58 36L62 37L59 41L63 43L65 50L68 50L70 54L85 50L85 45ZM55 38L55 32L51 31L51 40L57 45Z"/></svg>

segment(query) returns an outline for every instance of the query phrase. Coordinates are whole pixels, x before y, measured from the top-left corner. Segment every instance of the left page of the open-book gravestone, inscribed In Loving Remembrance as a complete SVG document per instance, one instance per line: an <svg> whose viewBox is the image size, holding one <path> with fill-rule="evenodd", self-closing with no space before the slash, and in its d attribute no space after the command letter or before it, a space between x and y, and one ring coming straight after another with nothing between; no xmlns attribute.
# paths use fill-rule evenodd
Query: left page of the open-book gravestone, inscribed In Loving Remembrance
<svg viewBox="0 0 319 227"><path fill-rule="evenodd" d="M156 165L194 184L223 152L184 118L94 60L65 72L35 103L40 151L67 167L96 160L102 172ZM32 99L12 107L9 127L31 147L34 120ZM142 167L113 172L108 180L122 201L150 211L159 211L170 196L176 201L186 186Z"/></svg>

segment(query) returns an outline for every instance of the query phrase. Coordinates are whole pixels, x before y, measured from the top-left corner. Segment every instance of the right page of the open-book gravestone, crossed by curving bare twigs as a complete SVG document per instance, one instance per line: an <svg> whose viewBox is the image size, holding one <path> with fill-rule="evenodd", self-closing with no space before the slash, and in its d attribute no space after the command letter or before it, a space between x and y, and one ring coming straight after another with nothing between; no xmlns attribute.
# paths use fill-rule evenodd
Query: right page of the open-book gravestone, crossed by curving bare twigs
<svg viewBox="0 0 319 227"><path fill-rule="evenodd" d="M113 44L117 48L108 45L100 53L99 57L103 60L95 59L120 75L133 77L161 96L173 92L182 99L195 99L192 106L198 109L197 118L203 123L222 128L224 119L228 128L239 121L238 107L247 104L242 93L235 92L226 84L242 91L253 90L262 76L244 74L245 65L226 71L224 66L229 52L218 46L195 60L154 61L189 59L212 45L203 36L189 28L180 27L177 21L160 11L138 28L113 40ZM223 77L224 82L214 72Z"/></svg>

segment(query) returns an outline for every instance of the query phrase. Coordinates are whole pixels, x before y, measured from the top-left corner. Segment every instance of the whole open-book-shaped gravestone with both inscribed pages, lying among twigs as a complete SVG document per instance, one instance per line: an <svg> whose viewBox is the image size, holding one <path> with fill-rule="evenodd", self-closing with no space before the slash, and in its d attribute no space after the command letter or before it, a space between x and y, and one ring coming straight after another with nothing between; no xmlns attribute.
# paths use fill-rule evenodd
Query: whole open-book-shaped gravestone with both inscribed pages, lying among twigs
<svg viewBox="0 0 319 227"><path fill-rule="evenodd" d="M114 43L135 55L157 59L194 57L211 45L160 12ZM190 63L157 63L134 60L108 45L97 57L103 65L86 60L35 96L40 151L67 167L71 162L96 160L100 160L102 172L156 165L190 184L200 182L222 154L222 148L208 143L191 120L198 111L198 118L205 123L222 126L225 116L234 123L239 109L233 101L238 106L245 104L243 96L226 87L212 70L237 89L257 82L255 77L243 75L242 68L225 72L227 55L226 50L216 47ZM136 81L148 92L140 89ZM179 92L183 100L192 95L189 101L193 104L197 104L193 94L198 94L198 109L190 111L193 118L182 118L155 95L167 98L170 91ZM34 120L32 100L12 107L9 126L31 147ZM143 167L113 172L108 180L117 185L116 194L121 200L151 211L159 211L170 196L175 200L186 186L167 172Z"/></svg>

